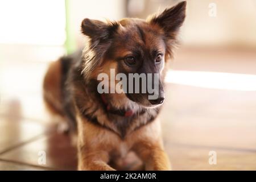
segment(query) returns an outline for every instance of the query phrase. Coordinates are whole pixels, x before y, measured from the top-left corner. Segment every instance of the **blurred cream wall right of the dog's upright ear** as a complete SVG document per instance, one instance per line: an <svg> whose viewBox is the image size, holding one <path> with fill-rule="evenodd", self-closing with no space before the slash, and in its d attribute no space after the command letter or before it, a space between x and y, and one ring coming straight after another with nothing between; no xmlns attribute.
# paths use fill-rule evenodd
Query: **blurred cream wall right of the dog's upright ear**
<svg viewBox="0 0 256 182"><path fill-rule="evenodd" d="M216 4L216 17L209 16L210 3ZM188 1L183 42L191 46L245 46L256 48L255 0Z"/></svg>

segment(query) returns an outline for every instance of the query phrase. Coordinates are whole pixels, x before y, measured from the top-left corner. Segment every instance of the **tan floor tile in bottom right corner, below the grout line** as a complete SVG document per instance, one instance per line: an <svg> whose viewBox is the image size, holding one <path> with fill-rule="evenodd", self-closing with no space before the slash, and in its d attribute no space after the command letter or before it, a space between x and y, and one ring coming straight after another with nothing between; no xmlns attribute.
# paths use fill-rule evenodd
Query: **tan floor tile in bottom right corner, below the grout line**
<svg viewBox="0 0 256 182"><path fill-rule="evenodd" d="M167 145L166 150L173 170L256 170L256 152L180 145ZM209 164L210 151L216 152L216 164Z"/></svg>

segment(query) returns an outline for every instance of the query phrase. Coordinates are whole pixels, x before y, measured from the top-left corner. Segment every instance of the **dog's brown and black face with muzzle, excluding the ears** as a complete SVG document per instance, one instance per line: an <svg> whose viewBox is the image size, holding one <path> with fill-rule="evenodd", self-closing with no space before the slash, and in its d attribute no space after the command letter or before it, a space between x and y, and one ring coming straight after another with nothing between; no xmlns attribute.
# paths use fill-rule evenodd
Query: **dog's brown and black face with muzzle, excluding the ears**
<svg viewBox="0 0 256 182"><path fill-rule="evenodd" d="M120 28L115 32L113 43L106 55L108 60L116 63L117 73L124 73L127 77L127 91L130 92L126 92L126 96L143 106L162 104L164 90L163 77L160 76L166 56L163 32L158 27L138 19L123 19L119 24ZM141 77L136 80L129 77L129 73L138 73ZM156 82L155 74L159 75ZM153 76L153 79L149 80L149 76ZM146 84L143 85L143 82ZM150 83L155 89L154 93L148 92ZM143 86L146 92L143 92ZM139 92L135 92L137 88ZM148 96L153 94L156 95L155 99L149 99Z"/></svg>

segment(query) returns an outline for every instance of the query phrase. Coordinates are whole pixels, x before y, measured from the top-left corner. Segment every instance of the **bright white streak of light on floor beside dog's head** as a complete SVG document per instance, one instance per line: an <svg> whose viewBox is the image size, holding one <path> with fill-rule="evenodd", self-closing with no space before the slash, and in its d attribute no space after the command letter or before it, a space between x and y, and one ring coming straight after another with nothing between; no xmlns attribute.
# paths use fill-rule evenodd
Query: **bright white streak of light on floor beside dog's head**
<svg viewBox="0 0 256 182"><path fill-rule="evenodd" d="M166 81L202 88L256 91L256 75L171 70Z"/></svg>

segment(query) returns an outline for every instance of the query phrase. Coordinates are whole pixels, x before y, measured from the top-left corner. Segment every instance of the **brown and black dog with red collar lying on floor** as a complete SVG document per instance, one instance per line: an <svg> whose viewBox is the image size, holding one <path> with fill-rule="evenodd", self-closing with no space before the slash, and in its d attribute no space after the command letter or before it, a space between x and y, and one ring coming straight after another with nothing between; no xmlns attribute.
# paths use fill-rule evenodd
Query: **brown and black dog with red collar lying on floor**
<svg viewBox="0 0 256 182"><path fill-rule="evenodd" d="M109 162L129 151L137 154L144 169L170 169L157 116L185 7L186 2L180 2L147 20L84 19L81 31L88 38L84 50L50 65L44 78L44 100L77 134L78 169L114 170ZM98 93L97 76L110 76L110 69L125 75L159 73L158 98L149 100L148 93Z"/></svg>

